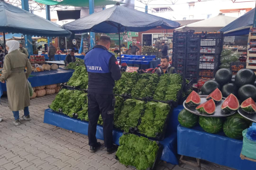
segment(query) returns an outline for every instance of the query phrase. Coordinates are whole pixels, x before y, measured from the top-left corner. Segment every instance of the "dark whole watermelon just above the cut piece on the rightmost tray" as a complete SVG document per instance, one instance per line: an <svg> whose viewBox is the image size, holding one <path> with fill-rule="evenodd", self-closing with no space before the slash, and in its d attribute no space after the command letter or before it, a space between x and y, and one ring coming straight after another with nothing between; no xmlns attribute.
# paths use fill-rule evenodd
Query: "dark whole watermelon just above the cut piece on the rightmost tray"
<svg viewBox="0 0 256 170"><path fill-rule="evenodd" d="M248 98L252 98L256 101L256 87L252 84L246 84L238 89L238 96L241 101L245 101Z"/></svg>

